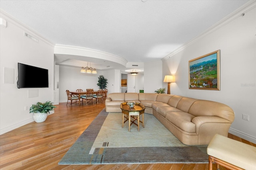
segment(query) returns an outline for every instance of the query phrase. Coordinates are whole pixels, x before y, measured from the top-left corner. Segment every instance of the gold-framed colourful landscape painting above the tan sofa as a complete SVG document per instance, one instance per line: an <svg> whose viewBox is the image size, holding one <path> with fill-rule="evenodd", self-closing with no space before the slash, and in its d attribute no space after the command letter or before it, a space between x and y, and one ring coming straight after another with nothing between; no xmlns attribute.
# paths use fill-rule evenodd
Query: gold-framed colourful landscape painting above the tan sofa
<svg viewBox="0 0 256 170"><path fill-rule="evenodd" d="M220 90L220 50L189 61L189 89Z"/></svg>

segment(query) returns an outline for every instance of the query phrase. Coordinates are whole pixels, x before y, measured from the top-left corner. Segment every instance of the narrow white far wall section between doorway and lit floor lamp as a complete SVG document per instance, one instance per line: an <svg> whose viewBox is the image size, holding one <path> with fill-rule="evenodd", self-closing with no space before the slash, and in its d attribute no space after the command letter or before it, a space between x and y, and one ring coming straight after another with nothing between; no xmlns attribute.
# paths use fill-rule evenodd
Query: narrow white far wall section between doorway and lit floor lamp
<svg viewBox="0 0 256 170"><path fill-rule="evenodd" d="M144 93L154 93L155 90L162 88L163 81L162 61L144 64Z"/></svg>

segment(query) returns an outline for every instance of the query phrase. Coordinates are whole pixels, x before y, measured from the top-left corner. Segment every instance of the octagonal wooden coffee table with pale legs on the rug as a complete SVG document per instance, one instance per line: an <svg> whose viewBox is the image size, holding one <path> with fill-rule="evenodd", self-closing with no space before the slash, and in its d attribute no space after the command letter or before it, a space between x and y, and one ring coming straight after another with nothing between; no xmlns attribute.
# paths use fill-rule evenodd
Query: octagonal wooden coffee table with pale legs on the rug
<svg viewBox="0 0 256 170"><path fill-rule="evenodd" d="M129 121L129 129L128 129L129 132L130 132L130 126L132 124L135 124L136 126L138 126L138 131L140 131L140 122L142 123L142 127L144 127L145 107L141 103L136 103L133 108L130 108L127 105L127 102L125 102L125 103L121 103L120 108L122 109L122 115L123 115L122 128L124 127L124 123L126 121ZM140 115L141 114L142 114L142 121L140 121ZM126 115L126 116L124 116L124 115ZM135 116L137 116L137 117L135 117ZM131 117L134 119L133 121L131 121ZM126 118L126 120L124 120L124 118ZM135 123L136 120L138 121L138 124Z"/></svg>

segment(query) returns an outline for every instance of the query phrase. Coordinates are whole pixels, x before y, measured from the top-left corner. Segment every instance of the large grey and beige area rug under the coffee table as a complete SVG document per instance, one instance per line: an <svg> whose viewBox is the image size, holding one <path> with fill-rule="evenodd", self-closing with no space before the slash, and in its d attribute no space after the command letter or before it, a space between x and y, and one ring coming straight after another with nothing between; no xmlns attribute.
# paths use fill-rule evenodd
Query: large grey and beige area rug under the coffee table
<svg viewBox="0 0 256 170"><path fill-rule="evenodd" d="M184 145L153 115L144 117L144 128L128 132L122 113L103 109L59 164L208 163L207 146Z"/></svg>

